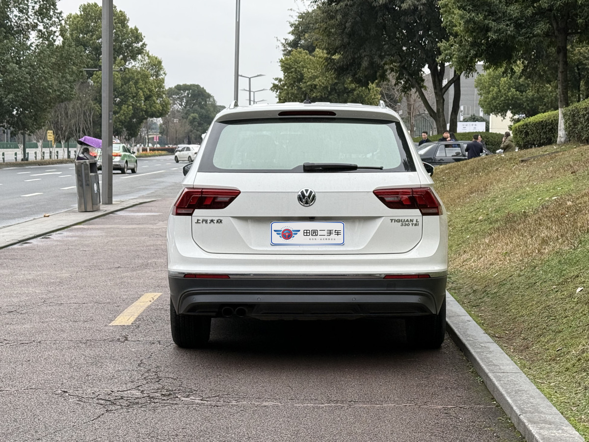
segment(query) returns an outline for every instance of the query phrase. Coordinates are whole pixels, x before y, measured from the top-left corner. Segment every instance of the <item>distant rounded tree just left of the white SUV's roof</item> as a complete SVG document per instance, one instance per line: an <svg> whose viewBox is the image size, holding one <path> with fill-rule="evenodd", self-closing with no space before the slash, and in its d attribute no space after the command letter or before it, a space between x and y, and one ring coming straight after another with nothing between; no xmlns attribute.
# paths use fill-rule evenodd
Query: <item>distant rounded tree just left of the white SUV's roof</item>
<svg viewBox="0 0 589 442"><path fill-rule="evenodd" d="M171 136L173 124L185 120L188 131L183 140L185 139L188 144L200 142L202 134L209 129L213 118L224 108L217 104L213 95L198 84L177 84L168 88L166 94L171 102L171 114L162 121L163 127L160 131ZM174 120L178 122L175 123ZM180 126L176 126L176 134L180 127L185 128L186 125L180 123Z"/></svg>

